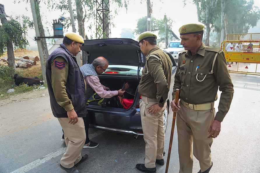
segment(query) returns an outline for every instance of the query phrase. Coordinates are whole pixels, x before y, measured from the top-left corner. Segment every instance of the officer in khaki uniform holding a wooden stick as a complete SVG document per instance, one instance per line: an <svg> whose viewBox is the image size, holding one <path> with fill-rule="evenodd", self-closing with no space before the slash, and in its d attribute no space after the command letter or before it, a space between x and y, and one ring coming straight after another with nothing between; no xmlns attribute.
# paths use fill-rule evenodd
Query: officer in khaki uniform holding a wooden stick
<svg viewBox="0 0 260 173"><path fill-rule="evenodd" d="M186 24L179 29L185 51L179 54L171 102L172 110L178 111L179 173L192 173L192 149L200 163L199 173L210 171L210 147L219 135L234 93L225 54L202 43L203 28L201 24ZM174 103L176 89L180 89L178 105ZM222 93L215 116L218 89Z"/></svg>

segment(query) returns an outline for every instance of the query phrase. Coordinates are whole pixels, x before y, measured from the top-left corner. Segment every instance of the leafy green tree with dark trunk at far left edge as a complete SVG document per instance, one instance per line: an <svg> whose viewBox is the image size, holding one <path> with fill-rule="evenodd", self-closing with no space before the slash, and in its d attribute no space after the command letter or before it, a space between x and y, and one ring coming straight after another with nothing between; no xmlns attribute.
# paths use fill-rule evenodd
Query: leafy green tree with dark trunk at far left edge
<svg viewBox="0 0 260 173"><path fill-rule="evenodd" d="M7 50L8 66L15 70L14 48L25 49L29 45L26 39L28 27L32 27L32 22L26 16L10 17L6 19L4 6L0 4L1 25L0 25L0 56Z"/></svg>

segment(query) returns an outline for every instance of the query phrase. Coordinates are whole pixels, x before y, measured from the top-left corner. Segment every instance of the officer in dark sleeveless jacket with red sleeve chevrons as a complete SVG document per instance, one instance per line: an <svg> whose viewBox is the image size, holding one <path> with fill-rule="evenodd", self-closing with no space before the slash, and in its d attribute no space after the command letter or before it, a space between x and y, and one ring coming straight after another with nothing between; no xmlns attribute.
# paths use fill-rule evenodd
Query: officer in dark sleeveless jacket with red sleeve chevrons
<svg viewBox="0 0 260 173"><path fill-rule="evenodd" d="M86 133L82 117L86 116L86 84L74 56L80 52L83 38L67 33L46 63L46 77L52 113L58 118L67 146L60 167L66 172L78 173L76 168L87 159L81 156Z"/></svg>

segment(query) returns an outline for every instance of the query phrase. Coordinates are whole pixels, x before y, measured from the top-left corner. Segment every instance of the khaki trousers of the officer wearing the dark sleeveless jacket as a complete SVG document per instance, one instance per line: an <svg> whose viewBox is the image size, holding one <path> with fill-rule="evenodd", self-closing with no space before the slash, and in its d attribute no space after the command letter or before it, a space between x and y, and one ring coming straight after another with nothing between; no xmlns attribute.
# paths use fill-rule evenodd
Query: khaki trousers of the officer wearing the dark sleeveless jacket
<svg viewBox="0 0 260 173"><path fill-rule="evenodd" d="M81 150L86 140L84 121L82 117L79 117L78 122L73 125L68 123L68 118L58 118L58 120L64 131L64 139L67 146L60 164L63 167L71 168L82 158Z"/></svg>

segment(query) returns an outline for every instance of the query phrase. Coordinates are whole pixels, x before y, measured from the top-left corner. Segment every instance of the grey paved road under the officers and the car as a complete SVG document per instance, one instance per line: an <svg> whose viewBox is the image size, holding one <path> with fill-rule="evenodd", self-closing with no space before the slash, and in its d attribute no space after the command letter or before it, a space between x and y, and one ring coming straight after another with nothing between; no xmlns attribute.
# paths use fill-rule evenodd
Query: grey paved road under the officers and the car
<svg viewBox="0 0 260 173"><path fill-rule="evenodd" d="M212 144L212 173L260 173L260 76L231 74L235 94L231 109L222 122L220 136ZM219 93L220 94L220 93ZM218 103L216 103L217 110ZM172 112L169 116L172 119ZM168 151L171 120L168 121L165 151ZM178 172L177 130L173 140L169 172ZM65 151L60 142L57 119L0 138L0 172L62 172L59 160ZM94 149L83 149L89 159L78 168L81 172L138 172L144 162L145 143L132 135L90 130L90 138L99 142ZM165 156L167 158L167 156ZM193 172L199 170L194 158ZM162 173L165 166L157 166Z"/></svg>

